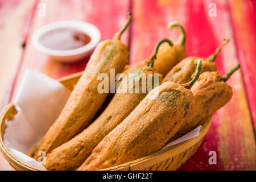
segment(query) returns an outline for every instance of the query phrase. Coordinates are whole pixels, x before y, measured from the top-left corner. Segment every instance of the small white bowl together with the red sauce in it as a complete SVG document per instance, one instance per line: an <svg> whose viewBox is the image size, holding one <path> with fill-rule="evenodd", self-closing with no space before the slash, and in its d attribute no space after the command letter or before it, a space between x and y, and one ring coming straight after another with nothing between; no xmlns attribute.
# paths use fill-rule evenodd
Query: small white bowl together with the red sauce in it
<svg viewBox="0 0 256 182"><path fill-rule="evenodd" d="M100 30L93 24L66 20L40 27L32 35L31 42L51 60L71 63L88 56L100 39Z"/></svg>

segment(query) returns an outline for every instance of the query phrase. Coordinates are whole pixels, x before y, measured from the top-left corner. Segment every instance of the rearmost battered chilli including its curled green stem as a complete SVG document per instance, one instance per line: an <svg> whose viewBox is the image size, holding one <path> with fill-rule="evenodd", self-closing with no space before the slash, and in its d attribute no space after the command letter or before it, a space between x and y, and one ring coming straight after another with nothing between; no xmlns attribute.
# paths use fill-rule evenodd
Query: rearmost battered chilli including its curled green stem
<svg viewBox="0 0 256 182"><path fill-rule="evenodd" d="M170 22L168 28L179 28L181 34L177 42L172 46L168 44L162 44L159 48L158 57L155 60L154 69L156 72L161 73L163 76L166 74L181 60L186 57L185 43L186 36L184 28L177 22Z"/></svg>

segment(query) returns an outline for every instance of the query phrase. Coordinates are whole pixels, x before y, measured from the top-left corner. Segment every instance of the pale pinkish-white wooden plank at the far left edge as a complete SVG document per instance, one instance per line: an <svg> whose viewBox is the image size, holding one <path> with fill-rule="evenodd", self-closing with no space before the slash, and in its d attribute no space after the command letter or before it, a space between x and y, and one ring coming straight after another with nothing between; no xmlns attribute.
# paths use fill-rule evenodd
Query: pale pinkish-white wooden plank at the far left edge
<svg viewBox="0 0 256 182"><path fill-rule="evenodd" d="M34 1L0 2L0 110L8 103L13 79L23 54L22 44L27 37L34 6ZM12 170L13 168L0 154L0 170L3 169Z"/></svg>

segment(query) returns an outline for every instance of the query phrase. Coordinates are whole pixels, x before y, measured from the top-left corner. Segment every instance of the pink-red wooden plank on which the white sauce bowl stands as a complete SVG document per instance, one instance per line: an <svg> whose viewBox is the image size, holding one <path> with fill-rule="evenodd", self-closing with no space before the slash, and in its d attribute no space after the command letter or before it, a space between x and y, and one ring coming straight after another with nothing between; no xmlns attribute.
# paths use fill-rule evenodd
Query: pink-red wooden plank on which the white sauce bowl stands
<svg viewBox="0 0 256 182"><path fill-rule="evenodd" d="M26 68L36 69L46 75L59 78L72 73L84 70L89 56L73 64L56 63L49 59L43 53L38 52L31 44L31 36L35 30L42 27L44 24L51 23L57 20L83 20L93 23L101 31L103 39L112 38L127 20L129 12L129 0L126 1L93 1L93 0L42 0L39 3L45 3L46 16L35 16L33 24L28 36L26 52L23 57L23 63L18 73L14 93L11 99L15 96L20 80L22 79ZM36 13L37 14L37 13ZM125 44L129 42L129 30L126 31L122 40Z"/></svg>

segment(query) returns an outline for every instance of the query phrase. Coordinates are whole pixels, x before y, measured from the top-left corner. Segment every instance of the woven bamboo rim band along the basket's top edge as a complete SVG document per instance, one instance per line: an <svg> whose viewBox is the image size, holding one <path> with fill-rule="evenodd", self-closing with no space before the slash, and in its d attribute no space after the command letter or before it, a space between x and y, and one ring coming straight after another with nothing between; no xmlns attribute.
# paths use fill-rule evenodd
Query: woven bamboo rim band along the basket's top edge
<svg viewBox="0 0 256 182"><path fill-rule="evenodd" d="M73 75L69 75L69 76L60 78L59 81L61 82L61 84L66 86L68 89L72 89L73 85L76 84L76 82L79 80L81 75L82 75L82 72L75 73ZM0 150L1 150L4 158L7 160L7 162L9 162L9 164L11 166L13 166L15 169L16 169L15 166L18 166L19 168L30 170L30 171L41 171L41 169L30 166L29 164L20 162L9 152L9 150L6 148L5 144L3 143L3 134L5 133L5 129L7 126L6 120L10 121L11 119L14 118L15 114L16 114L16 110L15 110L13 102L10 102L10 104L7 105L5 107L5 109L2 111L2 113L0 114L0 129L1 129ZM204 125L201 127L200 135L195 138L192 138L192 139L186 140L184 142L175 144L173 146L164 148L163 150L156 151L153 154L144 156L143 158L133 160L133 161L125 163L125 164L120 164L118 166L105 168L102 170L104 170L104 171L110 171L110 170L131 171L131 170L133 170L134 171L134 170L141 170L141 168L142 168L141 166L143 166L143 168L147 168L147 167L152 166L153 164L163 162L164 160L170 159L173 156L180 154L181 152L187 150L189 147L192 147L196 143L200 142L200 140L202 140L204 138L205 134L207 134L207 132L210 128L210 124L211 124L211 119L208 122L204 123Z"/></svg>

